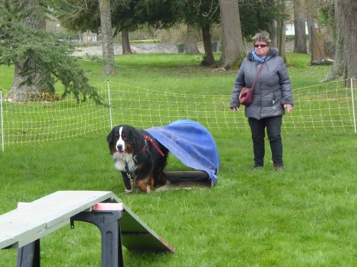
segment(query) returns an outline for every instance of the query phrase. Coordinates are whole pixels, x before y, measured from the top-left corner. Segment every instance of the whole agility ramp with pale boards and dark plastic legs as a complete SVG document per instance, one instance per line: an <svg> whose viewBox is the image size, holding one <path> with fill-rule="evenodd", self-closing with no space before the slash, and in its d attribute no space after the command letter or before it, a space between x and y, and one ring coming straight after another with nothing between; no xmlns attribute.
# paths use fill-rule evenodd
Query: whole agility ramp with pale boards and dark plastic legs
<svg viewBox="0 0 357 267"><path fill-rule="evenodd" d="M0 216L0 248L18 248L16 266L39 267L40 239L74 221L101 231L101 266L124 266L122 246L135 252L174 248L141 221L112 192L58 191Z"/></svg>

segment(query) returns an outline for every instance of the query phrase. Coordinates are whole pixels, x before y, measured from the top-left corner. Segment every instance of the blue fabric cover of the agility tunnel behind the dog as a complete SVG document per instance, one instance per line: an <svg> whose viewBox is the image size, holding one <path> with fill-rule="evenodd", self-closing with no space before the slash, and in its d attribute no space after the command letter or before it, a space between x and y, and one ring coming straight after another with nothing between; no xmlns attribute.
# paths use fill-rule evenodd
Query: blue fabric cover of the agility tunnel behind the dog
<svg viewBox="0 0 357 267"><path fill-rule="evenodd" d="M193 120L176 120L162 127L146 129L187 167L206 172L211 187L217 182L219 156L216 142L208 130ZM192 172L193 173L193 172ZM194 179L182 175L182 179Z"/></svg>

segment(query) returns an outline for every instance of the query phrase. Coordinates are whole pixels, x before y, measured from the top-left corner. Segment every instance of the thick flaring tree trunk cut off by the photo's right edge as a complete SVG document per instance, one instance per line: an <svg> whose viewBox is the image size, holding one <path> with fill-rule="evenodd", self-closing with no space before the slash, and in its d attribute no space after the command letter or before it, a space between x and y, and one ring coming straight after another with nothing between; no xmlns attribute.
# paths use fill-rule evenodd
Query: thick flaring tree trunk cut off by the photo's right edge
<svg viewBox="0 0 357 267"><path fill-rule="evenodd" d="M336 52L330 73L322 81L357 78L357 1L335 0Z"/></svg>

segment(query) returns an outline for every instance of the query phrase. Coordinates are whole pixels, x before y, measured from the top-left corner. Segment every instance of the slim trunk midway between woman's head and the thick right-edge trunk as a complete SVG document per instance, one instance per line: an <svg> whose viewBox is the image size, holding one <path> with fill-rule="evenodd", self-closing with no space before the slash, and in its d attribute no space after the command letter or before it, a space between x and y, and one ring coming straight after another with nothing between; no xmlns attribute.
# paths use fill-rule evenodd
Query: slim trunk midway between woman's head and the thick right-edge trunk
<svg viewBox="0 0 357 267"><path fill-rule="evenodd" d="M295 53L307 53L305 15L303 14L302 0L294 1L293 25L295 28L295 43L293 51Z"/></svg>

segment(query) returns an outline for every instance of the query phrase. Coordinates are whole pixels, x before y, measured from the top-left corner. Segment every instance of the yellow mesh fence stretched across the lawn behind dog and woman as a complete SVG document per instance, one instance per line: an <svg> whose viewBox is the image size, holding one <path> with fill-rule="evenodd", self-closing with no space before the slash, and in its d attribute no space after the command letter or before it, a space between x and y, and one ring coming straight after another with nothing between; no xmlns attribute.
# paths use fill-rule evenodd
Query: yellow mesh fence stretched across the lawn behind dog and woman
<svg viewBox="0 0 357 267"><path fill-rule="evenodd" d="M295 105L293 112L283 117L283 130L356 132L356 80L351 82L351 88L346 87L347 80L294 88ZM31 102L1 98L1 147L107 133L111 125L147 128L185 118L208 130L248 127L243 107L238 113L228 108L230 95L180 94L109 81L96 85L96 90L105 105L90 99L44 102L51 98L44 98L43 93L31 93Z"/></svg>

